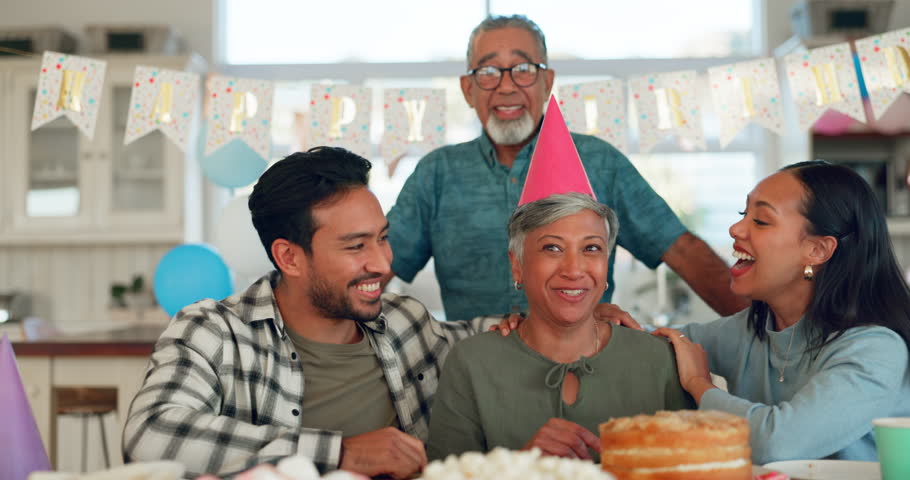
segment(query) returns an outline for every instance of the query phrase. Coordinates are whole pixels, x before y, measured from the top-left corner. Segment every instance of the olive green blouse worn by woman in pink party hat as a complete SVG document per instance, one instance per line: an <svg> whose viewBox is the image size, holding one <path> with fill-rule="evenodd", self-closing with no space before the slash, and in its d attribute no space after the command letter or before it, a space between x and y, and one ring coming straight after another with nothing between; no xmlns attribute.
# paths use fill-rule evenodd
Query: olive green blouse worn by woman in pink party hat
<svg viewBox="0 0 910 480"><path fill-rule="evenodd" d="M456 344L433 401L429 458L494 447L519 449L553 417L597 435L597 426L612 417L695 407L679 384L676 357L666 339L612 329L599 353L568 364L532 350L514 331L507 337L484 333ZM569 371L579 379L572 405L561 393Z"/></svg>

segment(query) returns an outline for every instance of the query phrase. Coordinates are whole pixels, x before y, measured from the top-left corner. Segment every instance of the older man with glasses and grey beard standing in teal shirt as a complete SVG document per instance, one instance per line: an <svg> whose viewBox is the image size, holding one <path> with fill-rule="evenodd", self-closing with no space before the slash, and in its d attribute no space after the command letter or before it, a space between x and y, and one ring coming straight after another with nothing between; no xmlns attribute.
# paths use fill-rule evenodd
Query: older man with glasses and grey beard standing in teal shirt
<svg viewBox="0 0 910 480"><path fill-rule="evenodd" d="M510 280L505 225L518 205L555 77L543 32L521 15L481 22L467 58L461 89L484 133L423 158L389 212L392 270L411 281L433 257L451 320L527 306ZM572 138L598 200L619 216L620 245L651 268L666 262L722 315L746 307L730 292L727 265L686 230L622 153L595 137ZM613 293L613 259L605 302Z"/></svg>

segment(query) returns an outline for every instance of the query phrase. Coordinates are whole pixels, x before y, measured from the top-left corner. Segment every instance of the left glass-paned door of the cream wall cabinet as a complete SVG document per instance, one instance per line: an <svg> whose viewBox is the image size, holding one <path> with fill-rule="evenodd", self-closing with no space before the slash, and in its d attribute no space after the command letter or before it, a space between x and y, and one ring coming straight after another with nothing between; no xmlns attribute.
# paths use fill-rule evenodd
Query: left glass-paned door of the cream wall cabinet
<svg viewBox="0 0 910 480"><path fill-rule="evenodd" d="M9 178L12 229L21 233L91 228L89 192L95 152L66 117L31 130L38 69L12 73L9 95Z"/></svg>

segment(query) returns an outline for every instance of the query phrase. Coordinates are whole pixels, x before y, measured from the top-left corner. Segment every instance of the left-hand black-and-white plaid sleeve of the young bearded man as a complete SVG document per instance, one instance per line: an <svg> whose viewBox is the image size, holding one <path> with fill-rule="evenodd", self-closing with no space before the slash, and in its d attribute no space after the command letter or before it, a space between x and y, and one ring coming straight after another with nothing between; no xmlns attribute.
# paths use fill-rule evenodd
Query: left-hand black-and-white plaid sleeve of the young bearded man
<svg viewBox="0 0 910 480"><path fill-rule="evenodd" d="M162 334L130 406L124 460L176 460L186 465L191 478L231 475L294 454L312 458L323 472L337 468L341 432L250 421L255 407L237 402L250 397L257 402L251 382L266 382L269 398L260 409L281 402L281 385L262 380L262 372L239 370L232 349L223 343L224 336L237 332L222 331L223 324L204 314L178 314ZM262 411L258 415L264 416Z"/></svg>

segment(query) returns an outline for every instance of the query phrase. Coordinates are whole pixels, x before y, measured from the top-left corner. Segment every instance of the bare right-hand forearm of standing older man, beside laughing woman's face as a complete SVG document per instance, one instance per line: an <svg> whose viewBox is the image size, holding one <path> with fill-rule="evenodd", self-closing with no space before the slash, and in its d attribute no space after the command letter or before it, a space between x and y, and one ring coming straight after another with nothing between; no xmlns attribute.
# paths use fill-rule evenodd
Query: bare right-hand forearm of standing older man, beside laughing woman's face
<svg viewBox="0 0 910 480"><path fill-rule="evenodd" d="M695 235L680 235L661 259L718 314L726 317L749 306L730 290L730 267Z"/></svg>

